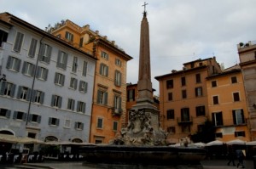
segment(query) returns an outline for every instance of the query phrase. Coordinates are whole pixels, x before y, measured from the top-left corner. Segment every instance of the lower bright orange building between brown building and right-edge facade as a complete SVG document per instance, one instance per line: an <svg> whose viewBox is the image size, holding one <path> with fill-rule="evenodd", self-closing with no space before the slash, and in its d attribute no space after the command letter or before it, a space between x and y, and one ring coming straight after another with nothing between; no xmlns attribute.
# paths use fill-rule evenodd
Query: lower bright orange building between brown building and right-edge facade
<svg viewBox="0 0 256 169"><path fill-rule="evenodd" d="M239 65L207 77L208 109L215 137L228 142L250 141L244 83Z"/></svg>

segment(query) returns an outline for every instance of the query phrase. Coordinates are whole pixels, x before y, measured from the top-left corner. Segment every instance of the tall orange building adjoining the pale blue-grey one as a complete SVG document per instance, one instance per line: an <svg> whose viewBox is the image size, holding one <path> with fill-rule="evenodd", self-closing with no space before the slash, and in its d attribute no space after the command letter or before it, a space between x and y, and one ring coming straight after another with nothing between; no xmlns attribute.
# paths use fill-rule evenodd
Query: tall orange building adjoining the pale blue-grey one
<svg viewBox="0 0 256 169"><path fill-rule="evenodd" d="M90 25L80 27L70 20L61 21L49 31L74 47L92 54L96 62L90 125L90 143L108 144L125 126L126 69L131 56Z"/></svg>

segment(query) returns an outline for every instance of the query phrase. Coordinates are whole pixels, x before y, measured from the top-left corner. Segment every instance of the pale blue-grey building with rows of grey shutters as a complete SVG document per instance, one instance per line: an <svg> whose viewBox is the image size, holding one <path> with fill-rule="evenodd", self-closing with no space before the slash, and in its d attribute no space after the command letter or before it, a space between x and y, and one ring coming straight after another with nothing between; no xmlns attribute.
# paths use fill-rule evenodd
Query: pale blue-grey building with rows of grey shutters
<svg viewBox="0 0 256 169"><path fill-rule="evenodd" d="M96 58L0 14L0 133L89 142Z"/></svg>

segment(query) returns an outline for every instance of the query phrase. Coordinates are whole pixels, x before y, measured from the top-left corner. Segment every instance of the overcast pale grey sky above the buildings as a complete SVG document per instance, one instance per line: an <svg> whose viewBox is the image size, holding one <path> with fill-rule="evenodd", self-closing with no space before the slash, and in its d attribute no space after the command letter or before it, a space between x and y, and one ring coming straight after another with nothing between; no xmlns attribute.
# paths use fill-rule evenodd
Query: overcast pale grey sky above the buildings
<svg viewBox="0 0 256 169"><path fill-rule="evenodd" d="M137 83L142 0L0 0L9 12L44 30L61 20L90 25L133 59L127 82ZM236 44L256 42L255 0L148 0L151 76L182 70L183 63L216 56L225 68L239 63Z"/></svg>

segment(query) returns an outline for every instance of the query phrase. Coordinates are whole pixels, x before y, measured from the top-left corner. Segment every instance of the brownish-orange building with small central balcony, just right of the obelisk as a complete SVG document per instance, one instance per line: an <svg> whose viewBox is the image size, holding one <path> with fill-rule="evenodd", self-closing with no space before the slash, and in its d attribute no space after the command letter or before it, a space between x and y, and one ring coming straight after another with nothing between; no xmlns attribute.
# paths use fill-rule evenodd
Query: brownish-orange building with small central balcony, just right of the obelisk
<svg viewBox="0 0 256 169"><path fill-rule="evenodd" d="M156 76L160 82L160 124L168 138L198 131L208 118L207 76L221 72L215 57L183 64L183 70Z"/></svg>

